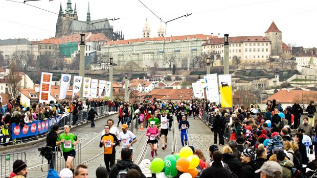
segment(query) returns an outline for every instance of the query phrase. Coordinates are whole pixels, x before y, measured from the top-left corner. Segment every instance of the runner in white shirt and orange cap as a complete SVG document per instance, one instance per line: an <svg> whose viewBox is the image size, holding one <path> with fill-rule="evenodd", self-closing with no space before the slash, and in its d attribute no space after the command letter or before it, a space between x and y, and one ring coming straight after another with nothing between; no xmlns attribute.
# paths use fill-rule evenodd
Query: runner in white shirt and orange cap
<svg viewBox="0 0 317 178"><path fill-rule="evenodd" d="M123 124L121 126L122 132L119 134L118 141L122 141L122 149L129 148L131 150L131 154L133 154L132 144L135 143L138 139L135 135L128 130L128 125Z"/></svg>

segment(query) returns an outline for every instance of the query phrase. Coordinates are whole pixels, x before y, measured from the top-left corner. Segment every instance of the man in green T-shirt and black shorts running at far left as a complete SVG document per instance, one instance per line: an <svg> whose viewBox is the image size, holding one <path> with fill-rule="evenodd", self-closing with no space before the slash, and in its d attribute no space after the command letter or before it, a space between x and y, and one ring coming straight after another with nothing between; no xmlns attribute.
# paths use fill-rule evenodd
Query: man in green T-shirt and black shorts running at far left
<svg viewBox="0 0 317 178"><path fill-rule="evenodd" d="M76 156L74 146L79 142L76 135L70 133L71 129L69 125L64 126L64 133L59 135L56 141L56 145L60 145L63 151L63 157L66 161L66 168L71 169L74 172L73 160Z"/></svg>

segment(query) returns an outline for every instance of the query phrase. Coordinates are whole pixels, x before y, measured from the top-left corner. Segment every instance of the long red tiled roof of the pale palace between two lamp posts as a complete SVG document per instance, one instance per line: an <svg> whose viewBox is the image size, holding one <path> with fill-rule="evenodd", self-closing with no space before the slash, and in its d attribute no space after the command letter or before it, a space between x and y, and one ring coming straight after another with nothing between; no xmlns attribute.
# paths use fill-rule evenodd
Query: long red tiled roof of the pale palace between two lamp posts
<svg viewBox="0 0 317 178"><path fill-rule="evenodd" d="M196 34L196 35L183 35L183 36L171 36L166 37L165 41L169 41L170 39L172 41L176 40L185 40L185 38L188 37L190 40L194 37L197 39L203 39L207 40L207 37L209 39L211 38L218 38L217 36L211 36L211 35L203 35L203 34ZM136 42L145 42L145 41L164 41L164 37L156 37L156 38L139 38L139 39L128 39L128 40L118 40L118 41L109 41L107 42L108 45L119 45L119 44L128 44L128 42L131 42L131 44Z"/></svg>

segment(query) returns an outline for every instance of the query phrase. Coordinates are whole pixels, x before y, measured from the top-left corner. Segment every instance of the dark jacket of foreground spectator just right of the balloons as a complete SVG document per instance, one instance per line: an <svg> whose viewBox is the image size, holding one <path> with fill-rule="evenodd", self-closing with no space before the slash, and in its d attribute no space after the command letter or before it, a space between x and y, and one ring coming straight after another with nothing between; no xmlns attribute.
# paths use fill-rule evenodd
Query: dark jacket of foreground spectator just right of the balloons
<svg viewBox="0 0 317 178"><path fill-rule="evenodd" d="M202 171L199 178L231 178L230 170L224 168L221 162L213 162L211 167Z"/></svg>

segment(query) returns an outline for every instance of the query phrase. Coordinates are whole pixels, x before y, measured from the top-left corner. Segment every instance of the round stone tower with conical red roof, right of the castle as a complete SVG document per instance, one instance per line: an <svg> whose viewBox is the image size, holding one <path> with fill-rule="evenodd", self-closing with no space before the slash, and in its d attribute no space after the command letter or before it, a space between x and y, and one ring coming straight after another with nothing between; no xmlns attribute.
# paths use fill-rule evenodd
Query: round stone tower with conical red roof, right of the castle
<svg viewBox="0 0 317 178"><path fill-rule="evenodd" d="M265 37L271 41L271 55L280 56L282 54L282 32L277 28L274 21L271 23Z"/></svg>

